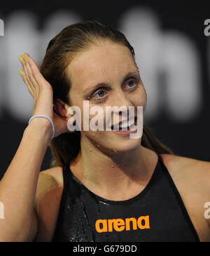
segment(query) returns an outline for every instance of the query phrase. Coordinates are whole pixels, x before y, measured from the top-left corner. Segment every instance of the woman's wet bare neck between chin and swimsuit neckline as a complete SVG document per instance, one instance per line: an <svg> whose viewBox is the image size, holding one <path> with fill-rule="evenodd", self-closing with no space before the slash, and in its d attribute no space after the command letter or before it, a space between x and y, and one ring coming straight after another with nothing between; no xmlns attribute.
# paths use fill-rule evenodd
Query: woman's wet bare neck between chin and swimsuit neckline
<svg viewBox="0 0 210 256"><path fill-rule="evenodd" d="M75 176L90 190L111 195L135 185L145 187L155 169L156 158L153 151L141 145L128 153L107 155L89 141L81 141L80 153L71 170L75 167Z"/></svg>

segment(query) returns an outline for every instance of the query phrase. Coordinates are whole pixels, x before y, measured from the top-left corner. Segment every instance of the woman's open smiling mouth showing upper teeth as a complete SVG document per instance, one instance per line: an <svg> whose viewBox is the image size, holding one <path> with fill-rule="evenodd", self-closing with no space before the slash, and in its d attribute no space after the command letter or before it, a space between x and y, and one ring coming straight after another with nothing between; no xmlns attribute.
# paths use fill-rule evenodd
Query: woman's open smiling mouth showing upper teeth
<svg viewBox="0 0 210 256"><path fill-rule="evenodd" d="M136 131L135 126L137 126L137 117L134 117L129 121L127 121L127 120L123 121L123 122L121 121L118 124L112 125L111 126L111 131L116 132L118 134L127 135L127 134L131 134L132 132ZM116 127L115 130L114 130L114 127Z"/></svg>

